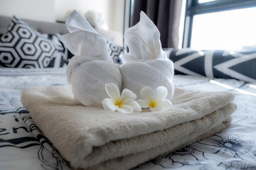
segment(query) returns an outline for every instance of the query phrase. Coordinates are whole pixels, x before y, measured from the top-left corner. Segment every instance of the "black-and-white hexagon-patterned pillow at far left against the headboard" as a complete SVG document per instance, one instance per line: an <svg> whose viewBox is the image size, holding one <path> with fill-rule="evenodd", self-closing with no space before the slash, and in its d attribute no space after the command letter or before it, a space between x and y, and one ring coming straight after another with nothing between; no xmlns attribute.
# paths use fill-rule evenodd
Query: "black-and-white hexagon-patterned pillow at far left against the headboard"
<svg viewBox="0 0 256 170"><path fill-rule="evenodd" d="M48 36L38 33L27 23L12 18L8 31L0 38L0 65L12 68L61 67L66 64L65 49L57 42L58 35ZM66 53L66 54L65 54ZM56 64L57 61L60 64ZM61 63L63 62L63 64Z"/></svg>

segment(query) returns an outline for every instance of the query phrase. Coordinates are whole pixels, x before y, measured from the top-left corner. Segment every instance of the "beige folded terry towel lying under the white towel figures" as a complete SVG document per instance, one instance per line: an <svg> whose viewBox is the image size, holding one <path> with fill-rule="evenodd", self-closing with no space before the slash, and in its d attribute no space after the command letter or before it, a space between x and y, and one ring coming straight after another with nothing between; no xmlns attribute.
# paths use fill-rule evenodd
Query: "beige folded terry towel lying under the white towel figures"
<svg viewBox="0 0 256 170"><path fill-rule="evenodd" d="M175 88L168 111L122 114L79 106L70 86L21 94L36 125L74 169L131 169L227 128L233 94Z"/></svg>

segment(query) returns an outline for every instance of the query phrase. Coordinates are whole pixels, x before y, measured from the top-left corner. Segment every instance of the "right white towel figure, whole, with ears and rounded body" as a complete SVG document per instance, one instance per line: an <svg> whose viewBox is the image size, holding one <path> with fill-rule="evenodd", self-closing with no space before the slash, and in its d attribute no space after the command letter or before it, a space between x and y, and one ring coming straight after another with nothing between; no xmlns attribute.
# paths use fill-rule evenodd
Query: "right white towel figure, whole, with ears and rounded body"
<svg viewBox="0 0 256 170"><path fill-rule="evenodd" d="M140 91L144 86L156 89L165 86L168 89L167 99L174 96L174 64L161 49L160 33L154 23L144 12L140 21L124 33L124 42L129 53L122 57L120 71L122 87L127 88L142 98Z"/></svg>

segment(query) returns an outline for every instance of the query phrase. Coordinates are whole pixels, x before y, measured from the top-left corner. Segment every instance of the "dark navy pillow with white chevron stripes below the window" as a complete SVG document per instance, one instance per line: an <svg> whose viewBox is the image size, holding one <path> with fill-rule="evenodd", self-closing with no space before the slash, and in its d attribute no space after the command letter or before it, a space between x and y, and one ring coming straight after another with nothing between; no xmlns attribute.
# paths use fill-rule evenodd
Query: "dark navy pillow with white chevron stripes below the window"
<svg viewBox="0 0 256 170"><path fill-rule="evenodd" d="M170 50L175 74L256 82L256 50Z"/></svg>

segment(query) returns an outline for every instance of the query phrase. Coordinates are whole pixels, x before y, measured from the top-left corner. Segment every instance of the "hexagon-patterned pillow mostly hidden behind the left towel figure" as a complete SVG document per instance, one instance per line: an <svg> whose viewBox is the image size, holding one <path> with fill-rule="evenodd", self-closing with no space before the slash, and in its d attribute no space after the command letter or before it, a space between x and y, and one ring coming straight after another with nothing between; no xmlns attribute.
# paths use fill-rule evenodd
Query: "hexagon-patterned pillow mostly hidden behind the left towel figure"
<svg viewBox="0 0 256 170"><path fill-rule="evenodd" d="M119 45L114 44L111 40L107 40L107 52L112 57L112 60L114 63L122 64L122 54L124 52L124 48L120 47ZM73 57L74 55L68 50L68 61Z"/></svg>

